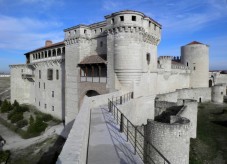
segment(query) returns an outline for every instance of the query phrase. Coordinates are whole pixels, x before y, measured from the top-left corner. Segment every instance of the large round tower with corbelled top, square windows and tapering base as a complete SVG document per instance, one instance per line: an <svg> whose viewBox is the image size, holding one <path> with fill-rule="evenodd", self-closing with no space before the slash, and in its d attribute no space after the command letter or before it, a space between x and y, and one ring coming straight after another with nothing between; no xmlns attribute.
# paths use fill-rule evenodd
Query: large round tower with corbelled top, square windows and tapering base
<svg viewBox="0 0 227 164"><path fill-rule="evenodd" d="M141 12L130 10L105 18L108 70L113 69L116 75L113 80L117 78L121 86L138 85L143 72L157 68L161 25Z"/></svg>

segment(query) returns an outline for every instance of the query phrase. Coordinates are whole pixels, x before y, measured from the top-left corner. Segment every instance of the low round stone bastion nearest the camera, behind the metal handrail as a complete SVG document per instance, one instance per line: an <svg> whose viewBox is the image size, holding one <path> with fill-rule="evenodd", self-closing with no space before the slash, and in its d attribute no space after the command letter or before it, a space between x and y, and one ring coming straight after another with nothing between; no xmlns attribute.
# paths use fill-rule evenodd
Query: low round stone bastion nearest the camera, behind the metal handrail
<svg viewBox="0 0 227 164"><path fill-rule="evenodd" d="M151 142L170 163L189 163L190 121L187 118L172 116L170 124L148 120L144 132L146 140ZM153 162L163 163L157 152L151 151Z"/></svg>

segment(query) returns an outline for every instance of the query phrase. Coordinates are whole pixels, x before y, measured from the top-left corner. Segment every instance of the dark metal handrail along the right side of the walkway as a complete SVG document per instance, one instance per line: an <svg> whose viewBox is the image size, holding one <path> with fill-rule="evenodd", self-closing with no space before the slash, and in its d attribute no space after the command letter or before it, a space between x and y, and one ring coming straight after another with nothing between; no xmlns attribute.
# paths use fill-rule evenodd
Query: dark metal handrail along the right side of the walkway
<svg viewBox="0 0 227 164"><path fill-rule="evenodd" d="M125 95L126 95L126 98L125 98ZM114 115L114 119L117 121L117 124L120 125L120 132L124 132L126 134L127 141L129 141L134 147L134 153L135 154L137 153L144 162L148 162L145 160L147 158L149 158L149 161L152 161L153 163L155 163L151 157L151 152L150 152L150 149L153 148L153 150L155 150L155 152L158 153L158 155L164 160L163 161L164 164L165 163L170 164L170 162L161 154L161 152L158 151L158 149L149 141L146 141L146 144L148 146L148 152L146 153L146 157L145 157L144 146L142 146L140 141L137 139L137 135L139 134L144 141L144 134L142 134L137 129L137 127L135 125L133 125L132 122L129 121L127 119L127 117L125 117L124 114L117 107L118 100L120 100L120 103L119 103L119 105L120 105L123 103L123 100L124 100L124 102L126 102L125 100L130 100L131 98L133 98L133 92L127 93L125 95L116 97L116 98L112 98L112 101L110 99L108 99L109 112L111 112ZM114 103L114 100L115 100L115 103ZM120 114L120 119L119 119L119 114ZM126 123L124 122L124 120L126 120ZM129 125L131 125L131 126L129 127ZM129 128L132 128L132 130L129 130ZM134 132L134 134L133 134L133 132Z"/></svg>

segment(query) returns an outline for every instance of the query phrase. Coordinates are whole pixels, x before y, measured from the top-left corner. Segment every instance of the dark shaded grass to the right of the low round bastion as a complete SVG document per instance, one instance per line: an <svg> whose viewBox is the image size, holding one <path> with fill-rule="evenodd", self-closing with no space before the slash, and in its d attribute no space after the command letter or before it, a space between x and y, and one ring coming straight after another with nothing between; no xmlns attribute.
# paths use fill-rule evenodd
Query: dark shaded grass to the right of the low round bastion
<svg viewBox="0 0 227 164"><path fill-rule="evenodd" d="M199 104L197 138L191 139L190 163L227 161L227 105ZM220 155L221 154L221 155Z"/></svg>

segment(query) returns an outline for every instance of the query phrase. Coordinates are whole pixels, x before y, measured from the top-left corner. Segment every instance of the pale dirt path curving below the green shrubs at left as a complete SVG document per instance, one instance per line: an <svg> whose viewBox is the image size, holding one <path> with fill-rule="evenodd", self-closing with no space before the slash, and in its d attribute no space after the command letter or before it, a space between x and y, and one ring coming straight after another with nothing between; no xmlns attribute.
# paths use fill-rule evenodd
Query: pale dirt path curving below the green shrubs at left
<svg viewBox="0 0 227 164"><path fill-rule="evenodd" d="M15 149L23 149L32 144L39 143L49 138L54 134L60 135L64 129L62 124L53 126L49 129L46 129L43 135L30 138L23 139L18 134L12 132L5 126L0 124L0 135L6 140L6 144L3 147L3 150L15 150Z"/></svg>

